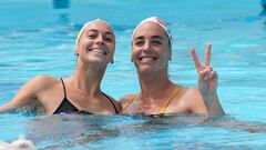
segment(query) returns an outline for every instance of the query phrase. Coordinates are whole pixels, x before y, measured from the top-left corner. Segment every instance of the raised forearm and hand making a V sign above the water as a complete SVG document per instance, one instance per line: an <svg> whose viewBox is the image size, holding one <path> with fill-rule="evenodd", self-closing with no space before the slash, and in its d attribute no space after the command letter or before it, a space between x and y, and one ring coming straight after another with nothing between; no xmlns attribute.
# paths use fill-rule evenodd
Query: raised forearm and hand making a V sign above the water
<svg viewBox="0 0 266 150"><path fill-rule="evenodd" d="M218 76L217 72L214 71L212 67L209 67L211 44L207 46L204 66L201 64L194 49L192 49L192 57L194 59L198 74L198 90L207 109L208 116L224 114L224 110L219 103L216 92L218 84Z"/></svg>

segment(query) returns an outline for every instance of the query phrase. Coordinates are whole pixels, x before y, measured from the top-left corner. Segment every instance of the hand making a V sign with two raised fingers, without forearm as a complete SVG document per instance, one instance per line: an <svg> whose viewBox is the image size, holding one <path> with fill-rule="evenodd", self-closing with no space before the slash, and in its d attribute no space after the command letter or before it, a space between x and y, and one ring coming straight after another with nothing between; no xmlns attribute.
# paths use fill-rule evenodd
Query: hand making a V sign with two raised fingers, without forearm
<svg viewBox="0 0 266 150"><path fill-rule="evenodd" d="M216 94L216 89L218 84L218 74L216 71L213 70L212 67L209 67L211 48L212 48L212 44L207 44L206 58L205 58L204 64L201 64L195 49L191 50L191 53L197 70L198 89L203 94L203 97L207 97L209 94Z"/></svg>

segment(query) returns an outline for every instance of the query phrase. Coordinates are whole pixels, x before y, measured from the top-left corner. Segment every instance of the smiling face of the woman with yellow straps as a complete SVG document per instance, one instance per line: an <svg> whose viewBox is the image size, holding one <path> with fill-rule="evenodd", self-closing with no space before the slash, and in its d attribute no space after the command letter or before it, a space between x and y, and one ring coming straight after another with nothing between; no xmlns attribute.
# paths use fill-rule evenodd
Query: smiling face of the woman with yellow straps
<svg viewBox="0 0 266 150"><path fill-rule="evenodd" d="M154 22L141 24L133 36L132 59L139 70L167 70L171 58L170 42L166 32Z"/></svg>

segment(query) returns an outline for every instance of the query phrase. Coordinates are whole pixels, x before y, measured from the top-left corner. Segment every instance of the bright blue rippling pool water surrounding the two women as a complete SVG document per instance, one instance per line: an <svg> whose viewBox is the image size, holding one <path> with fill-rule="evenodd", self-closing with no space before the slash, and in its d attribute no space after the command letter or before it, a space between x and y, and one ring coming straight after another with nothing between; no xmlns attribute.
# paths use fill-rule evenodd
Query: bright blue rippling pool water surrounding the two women
<svg viewBox="0 0 266 150"><path fill-rule="evenodd" d="M95 18L112 24L117 41L102 90L115 99L140 91L131 33L150 16L173 30L170 76L176 83L196 87L190 48L203 58L205 44L213 44L225 117L3 113L0 141L25 134L39 149L265 149L266 12L259 0L0 1L0 106L34 76L70 76L76 32Z"/></svg>

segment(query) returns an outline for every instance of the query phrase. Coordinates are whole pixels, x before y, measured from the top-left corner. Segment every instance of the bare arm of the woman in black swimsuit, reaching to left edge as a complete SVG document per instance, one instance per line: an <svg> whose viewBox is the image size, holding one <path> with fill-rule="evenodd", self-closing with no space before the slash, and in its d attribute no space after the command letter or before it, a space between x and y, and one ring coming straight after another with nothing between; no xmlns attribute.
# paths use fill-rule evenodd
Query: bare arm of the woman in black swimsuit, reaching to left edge
<svg viewBox="0 0 266 150"><path fill-rule="evenodd" d="M28 81L9 102L0 107L0 111L31 104L38 99L39 91L43 90L50 77L39 76Z"/></svg>

